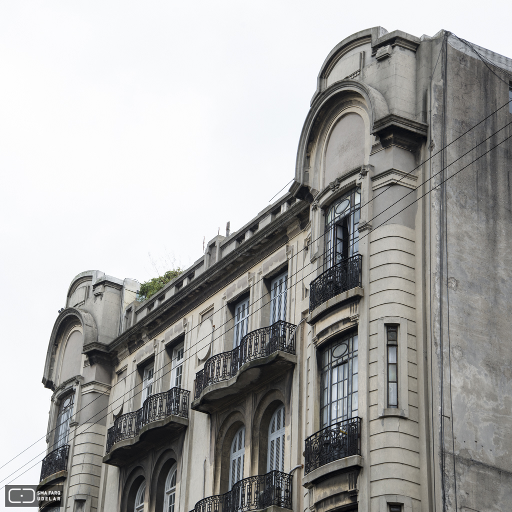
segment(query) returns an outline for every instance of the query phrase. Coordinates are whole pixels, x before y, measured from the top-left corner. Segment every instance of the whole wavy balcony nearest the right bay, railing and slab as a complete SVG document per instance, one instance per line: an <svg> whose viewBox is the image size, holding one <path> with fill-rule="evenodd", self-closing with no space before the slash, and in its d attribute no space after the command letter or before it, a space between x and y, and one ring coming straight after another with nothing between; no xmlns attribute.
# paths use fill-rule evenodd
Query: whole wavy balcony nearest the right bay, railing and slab
<svg viewBox="0 0 512 512"><path fill-rule="evenodd" d="M196 390L191 408L210 413L229 395L239 393L254 381L287 370L296 362L295 329L280 320L245 335L229 352L210 357L196 374Z"/></svg>

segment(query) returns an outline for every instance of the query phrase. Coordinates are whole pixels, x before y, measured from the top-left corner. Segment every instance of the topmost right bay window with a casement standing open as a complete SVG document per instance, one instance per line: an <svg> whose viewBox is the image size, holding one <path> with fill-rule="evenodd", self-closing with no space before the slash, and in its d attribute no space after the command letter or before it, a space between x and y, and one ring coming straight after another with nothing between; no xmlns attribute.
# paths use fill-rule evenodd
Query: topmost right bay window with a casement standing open
<svg viewBox="0 0 512 512"><path fill-rule="evenodd" d="M352 189L336 199L325 216L325 269L343 264L359 252L361 189Z"/></svg>

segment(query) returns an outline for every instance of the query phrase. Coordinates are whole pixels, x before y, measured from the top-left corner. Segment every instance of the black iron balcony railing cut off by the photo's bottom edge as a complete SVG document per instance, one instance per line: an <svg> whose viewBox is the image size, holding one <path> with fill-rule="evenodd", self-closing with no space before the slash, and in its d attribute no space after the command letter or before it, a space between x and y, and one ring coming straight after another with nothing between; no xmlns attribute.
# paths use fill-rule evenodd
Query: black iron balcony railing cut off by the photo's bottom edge
<svg viewBox="0 0 512 512"><path fill-rule="evenodd" d="M291 509L291 482L290 475L274 469L240 480L226 494L198 501L190 512L249 512L271 505Z"/></svg>

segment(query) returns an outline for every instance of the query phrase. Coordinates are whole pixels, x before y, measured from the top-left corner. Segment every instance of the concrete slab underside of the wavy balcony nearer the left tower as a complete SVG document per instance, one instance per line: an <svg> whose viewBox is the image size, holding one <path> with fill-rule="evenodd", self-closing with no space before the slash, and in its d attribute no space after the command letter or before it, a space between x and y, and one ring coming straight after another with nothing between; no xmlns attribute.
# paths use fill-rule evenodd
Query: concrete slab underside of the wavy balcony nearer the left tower
<svg viewBox="0 0 512 512"><path fill-rule="evenodd" d="M161 442L162 438L177 436L187 426L188 418L175 415L147 423L136 436L114 443L110 452L103 457L103 462L123 466Z"/></svg>

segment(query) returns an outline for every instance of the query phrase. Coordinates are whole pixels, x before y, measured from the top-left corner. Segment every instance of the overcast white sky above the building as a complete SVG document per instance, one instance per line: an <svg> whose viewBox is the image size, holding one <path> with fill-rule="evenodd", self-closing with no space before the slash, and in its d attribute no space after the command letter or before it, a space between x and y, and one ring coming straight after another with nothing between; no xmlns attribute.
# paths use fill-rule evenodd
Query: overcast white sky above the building
<svg viewBox="0 0 512 512"><path fill-rule="evenodd" d="M41 377L71 279L147 280L148 253L188 266L203 236L268 206L325 57L376 25L512 57L507 2L0 3L0 465L46 435Z"/></svg>

